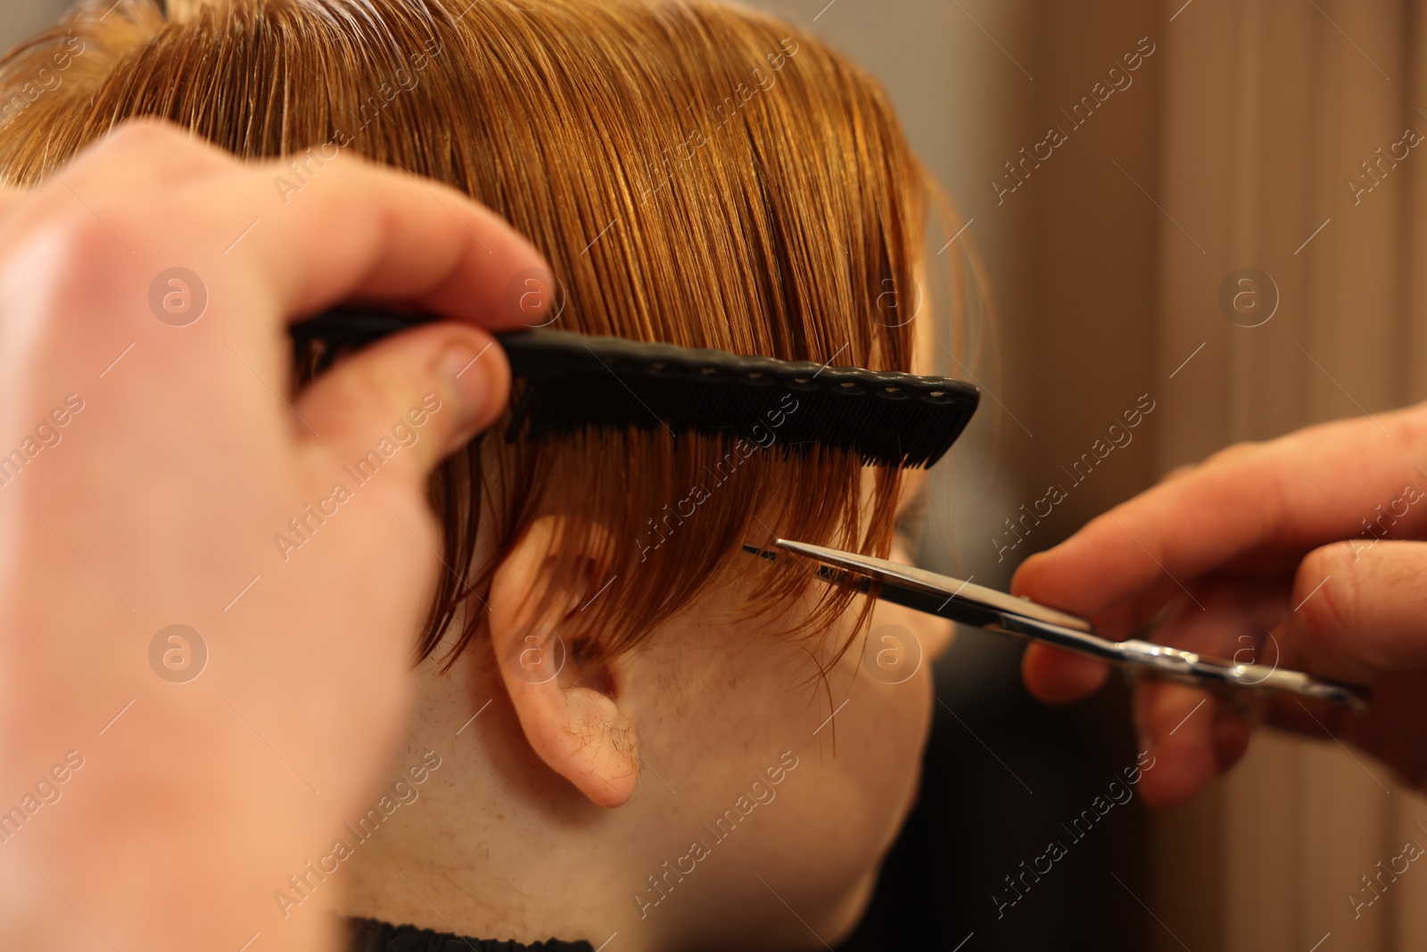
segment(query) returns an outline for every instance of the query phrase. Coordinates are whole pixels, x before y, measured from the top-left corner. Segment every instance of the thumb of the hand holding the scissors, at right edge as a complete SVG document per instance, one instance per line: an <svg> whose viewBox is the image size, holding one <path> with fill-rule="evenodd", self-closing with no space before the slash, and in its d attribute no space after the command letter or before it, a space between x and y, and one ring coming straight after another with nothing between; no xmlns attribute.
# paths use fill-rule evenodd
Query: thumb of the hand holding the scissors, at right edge
<svg viewBox="0 0 1427 952"><path fill-rule="evenodd" d="M1353 540L1313 550L1293 579L1284 665L1351 684L1427 667L1427 544Z"/></svg>

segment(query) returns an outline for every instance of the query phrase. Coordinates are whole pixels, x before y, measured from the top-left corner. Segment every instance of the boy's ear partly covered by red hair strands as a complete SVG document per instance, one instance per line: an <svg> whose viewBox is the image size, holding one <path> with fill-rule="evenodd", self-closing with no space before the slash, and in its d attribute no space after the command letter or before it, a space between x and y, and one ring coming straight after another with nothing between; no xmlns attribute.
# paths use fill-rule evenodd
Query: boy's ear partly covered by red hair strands
<svg viewBox="0 0 1427 952"><path fill-rule="evenodd" d="M618 704L622 685L606 668L581 671L559 634L602 584L591 551L602 528L569 528L562 515L537 518L497 568L491 647L535 754L599 806L619 806L639 779L639 739ZM567 571L557 574L561 557ZM568 571L571 564L581 569Z"/></svg>

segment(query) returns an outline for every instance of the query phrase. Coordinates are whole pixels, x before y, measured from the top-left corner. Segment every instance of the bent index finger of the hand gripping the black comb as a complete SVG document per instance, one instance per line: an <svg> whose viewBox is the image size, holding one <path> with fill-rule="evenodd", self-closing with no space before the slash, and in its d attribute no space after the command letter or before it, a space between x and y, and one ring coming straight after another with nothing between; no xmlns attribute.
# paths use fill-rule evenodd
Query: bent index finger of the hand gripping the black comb
<svg viewBox="0 0 1427 952"><path fill-rule="evenodd" d="M548 268L544 257L504 218L450 186L367 161L335 143L245 163L177 127L143 126L90 150L70 183L80 194L127 193L114 198L130 204L133 191L148 191L140 204L157 221L193 220L193 210L203 210L203 227L217 237L156 228L154 250L176 247L186 258L243 267L287 318L364 300L514 330L541 308L527 297L529 308L521 311L507 297L522 271ZM177 184L163 177L130 177L127 187L117 181L116 168L126 167L120 160L160 154L173 163L190 153L227 168ZM167 208L183 214L166 217ZM194 247L195 240L204 244Z"/></svg>

